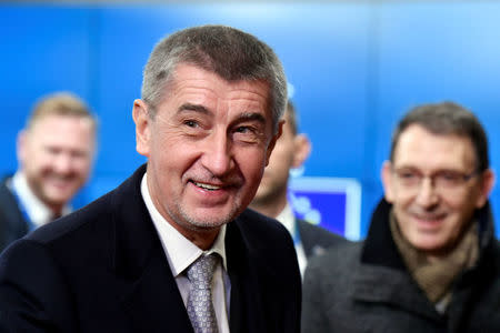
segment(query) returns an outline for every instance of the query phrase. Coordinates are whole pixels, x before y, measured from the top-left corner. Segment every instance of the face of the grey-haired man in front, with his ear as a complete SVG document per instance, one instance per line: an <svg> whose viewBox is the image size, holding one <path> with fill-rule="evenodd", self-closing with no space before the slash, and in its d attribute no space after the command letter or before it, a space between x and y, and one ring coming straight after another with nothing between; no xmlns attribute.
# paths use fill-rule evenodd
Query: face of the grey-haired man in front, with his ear
<svg viewBox="0 0 500 333"><path fill-rule="evenodd" d="M162 216L184 236L218 231L253 198L274 145L269 85L179 64L153 118L137 100L137 148Z"/></svg>

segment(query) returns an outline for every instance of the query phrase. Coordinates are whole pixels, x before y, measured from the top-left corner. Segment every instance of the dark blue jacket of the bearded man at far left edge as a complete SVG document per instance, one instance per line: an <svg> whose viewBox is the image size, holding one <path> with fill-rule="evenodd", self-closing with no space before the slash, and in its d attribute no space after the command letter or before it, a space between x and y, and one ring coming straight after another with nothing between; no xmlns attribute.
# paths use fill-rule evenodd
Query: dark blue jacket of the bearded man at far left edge
<svg viewBox="0 0 500 333"><path fill-rule="evenodd" d="M4 178L0 182L0 252L10 243L28 233L28 222L19 209L19 203Z"/></svg>

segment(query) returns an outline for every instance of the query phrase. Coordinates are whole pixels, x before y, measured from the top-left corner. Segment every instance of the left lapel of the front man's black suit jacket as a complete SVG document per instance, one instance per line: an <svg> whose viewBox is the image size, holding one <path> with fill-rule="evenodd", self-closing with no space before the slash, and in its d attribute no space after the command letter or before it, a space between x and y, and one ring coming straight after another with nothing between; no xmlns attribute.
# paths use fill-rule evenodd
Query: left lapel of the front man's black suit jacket
<svg viewBox="0 0 500 333"><path fill-rule="evenodd" d="M189 316L140 193L144 167L114 192L111 265L118 297L137 332L192 332Z"/></svg>

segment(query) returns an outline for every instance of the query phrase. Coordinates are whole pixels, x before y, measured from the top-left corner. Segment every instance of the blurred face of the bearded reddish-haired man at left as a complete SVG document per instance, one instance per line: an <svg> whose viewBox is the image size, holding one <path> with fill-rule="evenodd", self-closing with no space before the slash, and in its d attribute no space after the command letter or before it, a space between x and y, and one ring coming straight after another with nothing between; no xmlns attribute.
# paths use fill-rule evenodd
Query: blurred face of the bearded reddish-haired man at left
<svg viewBox="0 0 500 333"><path fill-rule="evenodd" d="M89 178L94 149L90 119L51 114L19 137L19 160L30 189L53 211L60 211Z"/></svg>

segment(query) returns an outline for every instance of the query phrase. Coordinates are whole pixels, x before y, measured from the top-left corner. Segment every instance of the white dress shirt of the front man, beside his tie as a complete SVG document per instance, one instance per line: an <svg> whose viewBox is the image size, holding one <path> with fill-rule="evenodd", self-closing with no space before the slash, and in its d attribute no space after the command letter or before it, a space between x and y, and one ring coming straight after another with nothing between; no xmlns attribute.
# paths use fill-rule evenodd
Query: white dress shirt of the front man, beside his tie
<svg viewBox="0 0 500 333"><path fill-rule="evenodd" d="M188 295L191 289L191 282L186 274L186 269L203 254L216 252L222 259L218 262L213 272L212 302L219 332L229 333L228 313L231 283L229 281L226 261L226 225L221 226L212 248L208 251L202 251L177 231L177 229L174 229L157 210L148 190L146 173L141 181L141 194L161 240L167 261L172 271L172 275L176 279L184 306L188 304Z"/></svg>

